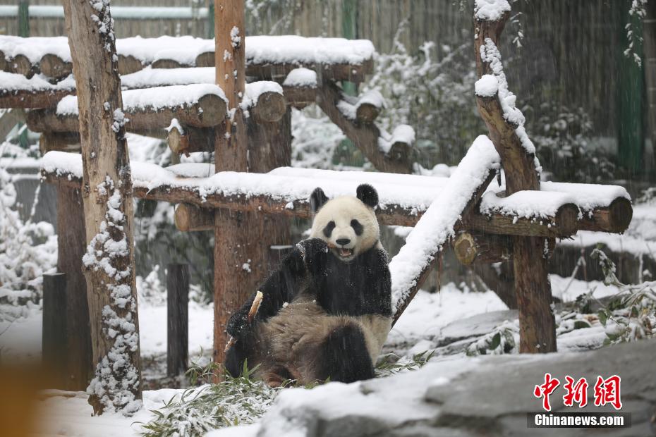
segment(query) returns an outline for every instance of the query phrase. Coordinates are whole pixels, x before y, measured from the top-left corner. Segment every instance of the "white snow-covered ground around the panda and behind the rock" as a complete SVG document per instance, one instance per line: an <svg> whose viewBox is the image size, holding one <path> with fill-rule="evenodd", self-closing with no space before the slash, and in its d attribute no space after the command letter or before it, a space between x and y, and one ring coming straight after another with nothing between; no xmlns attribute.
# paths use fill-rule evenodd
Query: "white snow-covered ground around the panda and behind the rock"
<svg viewBox="0 0 656 437"><path fill-rule="evenodd" d="M587 293L596 287L595 296L602 297L616 291L613 287L602 284L571 281L552 275L554 295L563 295L566 300L573 300L577 295ZM565 293L564 290L566 290ZM141 296L140 296L141 297ZM501 323L499 314L506 306L492 291L485 293L463 293L452 283L444 285L439 293L420 291L406 312L394 326L387 340L385 350L397 355L412 355L413 353L430 350L439 344L444 336L454 336L454 331L461 330L458 322L471 316L489 315L492 319L487 323ZM143 357L152 357L166 353L166 303L165 300L150 298L140 299L139 307L141 351ZM189 352L190 357L198 356L200 348L212 349L212 304L190 302L189 306ZM465 325L471 327L470 322ZM485 325L485 324L484 324ZM487 326L487 325L485 325ZM38 359L41 350L41 312L31 309L27 316L13 321L0 322L0 348L2 358L20 357L22 359ZM483 328L485 329L485 328ZM6 330L6 331L5 331ZM455 334L456 336L460 334ZM559 337L560 350L577 350L581 343L588 346L598 346L605 338L601 327L571 331ZM446 359L447 357L440 358ZM466 368L473 357L466 357L460 352L456 357L455 367ZM339 389L341 390L341 389ZM144 406L134 417L126 418L121 414L104 414L102 417L92 417L92 408L87 404L86 396L79 393L74 398L53 396L39 402L40 429L39 435L63 436L129 436L137 435L140 430L138 422L147 422L154 416L150 410L162 407L164 401L169 401L181 390L161 389L147 390L143 393ZM255 427L251 427L255 430ZM245 435L248 429L239 429L238 435ZM223 435L223 434L221 434Z"/></svg>

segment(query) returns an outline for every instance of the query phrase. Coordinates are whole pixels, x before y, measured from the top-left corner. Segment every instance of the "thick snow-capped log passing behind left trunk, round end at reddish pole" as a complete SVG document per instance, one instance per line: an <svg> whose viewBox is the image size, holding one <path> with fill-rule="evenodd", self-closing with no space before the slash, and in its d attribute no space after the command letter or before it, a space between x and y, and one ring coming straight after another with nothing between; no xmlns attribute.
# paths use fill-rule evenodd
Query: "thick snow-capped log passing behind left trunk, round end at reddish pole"
<svg viewBox="0 0 656 437"><path fill-rule="evenodd" d="M226 100L216 85L157 87L123 92L126 129L144 132L167 128L171 120L198 128L223 123ZM78 130L77 98L64 97L56 110L30 111L28 127L34 132L74 132Z"/></svg>

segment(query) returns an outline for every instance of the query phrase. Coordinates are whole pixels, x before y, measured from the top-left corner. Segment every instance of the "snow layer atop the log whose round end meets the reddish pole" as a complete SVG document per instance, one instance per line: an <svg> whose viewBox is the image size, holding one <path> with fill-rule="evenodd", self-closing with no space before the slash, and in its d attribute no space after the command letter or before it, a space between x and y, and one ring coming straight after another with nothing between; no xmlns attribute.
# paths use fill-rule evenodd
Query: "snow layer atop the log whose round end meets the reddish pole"
<svg viewBox="0 0 656 437"><path fill-rule="evenodd" d="M171 85L169 87L154 87L145 90L123 91L123 109L138 111L144 109L160 110L176 108L178 106L191 106L208 94L214 94L227 103L226 94L218 85L194 84ZM78 97L66 96L57 104L57 115L77 116Z"/></svg>

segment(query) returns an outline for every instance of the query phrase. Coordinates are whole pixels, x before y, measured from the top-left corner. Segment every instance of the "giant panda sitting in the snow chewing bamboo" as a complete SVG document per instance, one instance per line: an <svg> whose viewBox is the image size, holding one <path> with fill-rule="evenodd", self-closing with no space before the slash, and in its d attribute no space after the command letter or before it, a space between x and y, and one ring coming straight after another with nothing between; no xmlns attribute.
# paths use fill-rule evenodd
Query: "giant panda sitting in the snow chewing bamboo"
<svg viewBox="0 0 656 437"><path fill-rule="evenodd" d="M270 386L295 380L353 382L374 377L374 364L391 328L387 252L379 241L376 190L359 185L356 196L310 196L310 238L282 259L226 331L236 342L224 363L232 376L246 362Z"/></svg>

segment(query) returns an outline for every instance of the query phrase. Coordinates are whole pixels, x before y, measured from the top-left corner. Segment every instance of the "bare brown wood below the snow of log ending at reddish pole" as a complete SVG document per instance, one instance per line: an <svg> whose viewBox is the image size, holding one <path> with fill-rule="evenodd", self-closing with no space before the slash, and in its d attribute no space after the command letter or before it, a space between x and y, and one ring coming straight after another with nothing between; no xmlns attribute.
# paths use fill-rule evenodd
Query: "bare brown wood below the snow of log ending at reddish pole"
<svg viewBox="0 0 656 437"><path fill-rule="evenodd" d="M171 120L177 118L183 125L197 128L208 128L224 122L226 102L214 94L207 94L190 106L176 106L154 109L125 109L128 122L128 132L140 133L149 130L165 129L171 125ZM28 128L33 132L75 132L78 130L78 116L68 114L57 115L54 109L41 109L28 113Z"/></svg>

